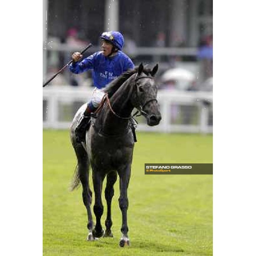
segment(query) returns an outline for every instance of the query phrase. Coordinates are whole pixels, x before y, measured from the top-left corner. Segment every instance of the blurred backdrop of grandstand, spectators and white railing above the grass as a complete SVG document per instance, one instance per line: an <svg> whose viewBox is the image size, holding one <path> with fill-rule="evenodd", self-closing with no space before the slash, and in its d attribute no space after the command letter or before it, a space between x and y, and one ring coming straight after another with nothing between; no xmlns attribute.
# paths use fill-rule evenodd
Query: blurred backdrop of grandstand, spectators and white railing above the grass
<svg viewBox="0 0 256 256"><path fill-rule="evenodd" d="M212 0L44 0L43 79L70 61L71 53L118 30L135 65L159 63L156 79L162 121L141 131L212 133ZM91 73L68 68L43 89L44 128L66 129L93 89Z"/></svg>

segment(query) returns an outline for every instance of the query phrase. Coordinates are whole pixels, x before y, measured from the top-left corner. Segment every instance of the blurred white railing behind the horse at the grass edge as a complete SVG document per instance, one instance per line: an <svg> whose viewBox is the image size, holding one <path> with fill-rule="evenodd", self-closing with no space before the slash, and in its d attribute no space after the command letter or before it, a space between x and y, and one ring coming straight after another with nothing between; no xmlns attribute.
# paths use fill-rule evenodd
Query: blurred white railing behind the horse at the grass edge
<svg viewBox="0 0 256 256"><path fill-rule="evenodd" d="M72 105L74 102L87 102L91 96L92 88L52 86L43 89L43 100L46 101L45 120L43 128L67 129L73 116L68 121L59 120L61 105ZM194 91L168 91L159 90L157 95L162 120L159 125L149 127L144 119L140 119L138 131L156 132L184 132L184 133L212 133L212 125L208 124L209 114L212 111L212 93ZM207 102L209 104L204 104ZM198 119L190 124L173 123L172 112L175 109L176 116L181 115L180 106L194 106L198 113ZM177 108L178 107L178 108ZM180 110L179 110L180 109ZM178 111L181 111L180 113Z"/></svg>

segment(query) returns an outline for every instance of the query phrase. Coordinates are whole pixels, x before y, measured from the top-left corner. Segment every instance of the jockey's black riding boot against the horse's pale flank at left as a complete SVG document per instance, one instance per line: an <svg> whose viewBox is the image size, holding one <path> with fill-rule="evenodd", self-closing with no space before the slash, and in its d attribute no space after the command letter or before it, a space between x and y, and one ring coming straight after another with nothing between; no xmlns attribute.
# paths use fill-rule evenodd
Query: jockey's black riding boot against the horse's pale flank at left
<svg viewBox="0 0 256 256"><path fill-rule="evenodd" d="M90 113L93 111L87 106L86 110L84 113L81 115L76 128L75 128L75 134L76 134L76 141L77 142L82 142L85 141L85 133L86 133L86 128L89 125L90 121Z"/></svg>

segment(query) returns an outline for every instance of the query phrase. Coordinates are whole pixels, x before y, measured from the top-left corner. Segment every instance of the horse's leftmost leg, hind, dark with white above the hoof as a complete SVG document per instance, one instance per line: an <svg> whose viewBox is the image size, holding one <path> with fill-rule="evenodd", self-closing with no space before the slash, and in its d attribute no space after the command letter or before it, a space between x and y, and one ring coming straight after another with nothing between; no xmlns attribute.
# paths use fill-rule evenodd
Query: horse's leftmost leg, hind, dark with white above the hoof
<svg viewBox="0 0 256 256"><path fill-rule="evenodd" d="M87 240L93 241L94 240L94 237L92 234L93 216L90 208L92 203L92 191L90 190L90 185L89 185L89 160L88 160L87 152L84 150L84 147L81 145L81 143L75 143L73 144L73 147L76 152L76 157L78 160L78 177L83 187L83 192L82 192L83 202L84 202L84 206L87 209L87 216L88 216L87 228L89 230Z"/></svg>

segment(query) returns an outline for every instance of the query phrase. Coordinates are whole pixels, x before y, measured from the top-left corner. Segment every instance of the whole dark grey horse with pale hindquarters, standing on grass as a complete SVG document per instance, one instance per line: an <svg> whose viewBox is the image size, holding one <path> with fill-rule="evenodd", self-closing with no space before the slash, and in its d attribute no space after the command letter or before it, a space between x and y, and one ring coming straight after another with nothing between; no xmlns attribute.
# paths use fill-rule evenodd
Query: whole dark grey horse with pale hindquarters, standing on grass
<svg viewBox="0 0 256 256"><path fill-rule="evenodd" d="M131 113L134 108L137 108L145 116L148 125L159 124L161 114L156 99L157 84L154 80L157 69L158 65L151 70L143 67L141 63L139 67L123 73L103 89L106 94L102 105L96 111L96 117L91 118L90 128L85 135L85 143L76 141L75 128L86 104L79 108L73 119L70 137L78 164L71 190L79 186L81 182L83 202L88 216L88 241L96 240L101 236L113 237L111 201L114 195L113 185L118 174L120 181L119 207L122 212L122 237L119 245L123 247L130 244L127 225L127 189L131 176L135 135L131 128ZM90 207L92 203L92 191L89 186L90 166L95 194L93 206L96 216L95 226ZM107 176L105 199L108 209L104 232L101 217L103 214L102 183L105 176Z"/></svg>

